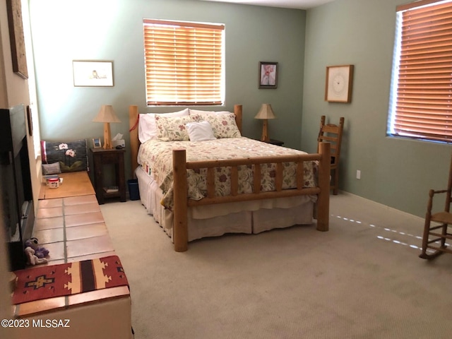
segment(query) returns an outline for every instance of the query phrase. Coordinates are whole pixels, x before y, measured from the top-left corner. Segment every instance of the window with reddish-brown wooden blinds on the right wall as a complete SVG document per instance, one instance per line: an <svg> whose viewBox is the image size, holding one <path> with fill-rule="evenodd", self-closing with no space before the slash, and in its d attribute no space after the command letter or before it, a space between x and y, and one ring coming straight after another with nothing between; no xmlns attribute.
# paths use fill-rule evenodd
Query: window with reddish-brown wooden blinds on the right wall
<svg viewBox="0 0 452 339"><path fill-rule="evenodd" d="M452 142L452 1L398 6L388 134Z"/></svg>

